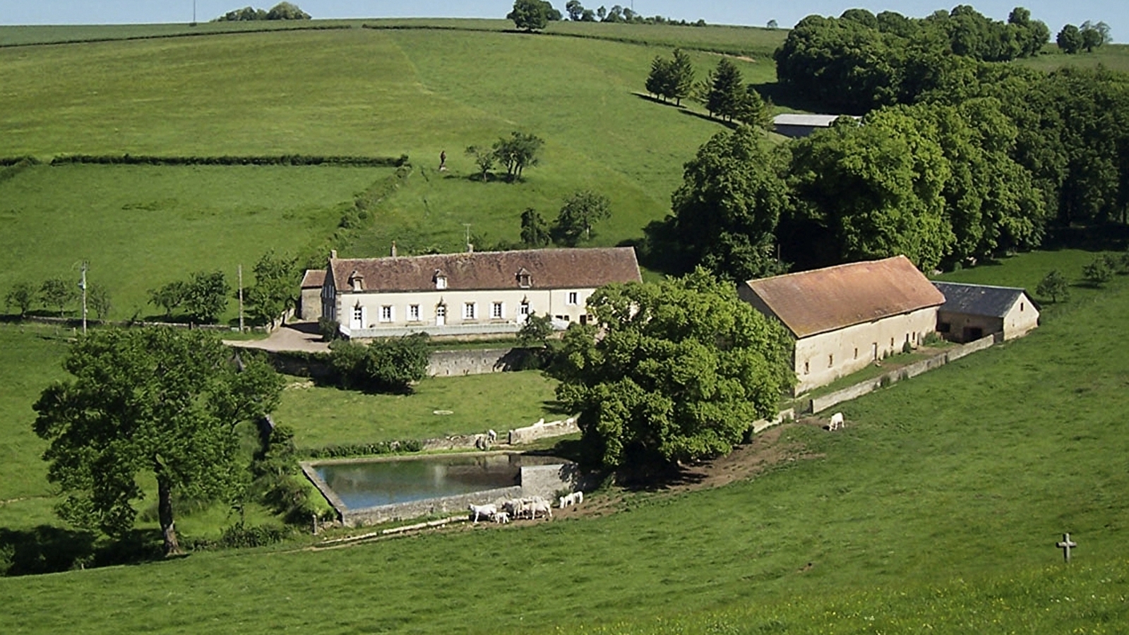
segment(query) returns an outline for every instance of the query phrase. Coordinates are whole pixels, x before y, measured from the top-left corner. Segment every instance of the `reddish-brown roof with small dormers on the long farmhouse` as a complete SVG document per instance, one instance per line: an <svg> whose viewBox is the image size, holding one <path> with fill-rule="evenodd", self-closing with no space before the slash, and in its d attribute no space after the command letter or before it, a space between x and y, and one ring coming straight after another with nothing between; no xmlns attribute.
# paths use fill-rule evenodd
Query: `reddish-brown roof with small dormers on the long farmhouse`
<svg viewBox="0 0 1129 635"><path fill-rule="evenodd" d="M530 274L528 289L588 289L610 282L641 282L632 247L524 249L385 258L330 258L336 289L350 291L355 274L365 292L435 291L436 274L452 291L522 289L518 273Z"/></svg>

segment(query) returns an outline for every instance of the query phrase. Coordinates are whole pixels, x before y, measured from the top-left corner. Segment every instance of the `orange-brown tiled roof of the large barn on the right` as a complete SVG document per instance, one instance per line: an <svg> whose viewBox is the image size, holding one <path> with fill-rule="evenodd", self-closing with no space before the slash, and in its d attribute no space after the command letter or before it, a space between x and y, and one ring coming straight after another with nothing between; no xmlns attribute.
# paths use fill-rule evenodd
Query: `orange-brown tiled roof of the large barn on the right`
<svg viewBox="0 0 1129 635"><path fill-rule="evenodd" d="M745 284L796 337L945 302L940 291L905 256L750 280Z"/></svg>

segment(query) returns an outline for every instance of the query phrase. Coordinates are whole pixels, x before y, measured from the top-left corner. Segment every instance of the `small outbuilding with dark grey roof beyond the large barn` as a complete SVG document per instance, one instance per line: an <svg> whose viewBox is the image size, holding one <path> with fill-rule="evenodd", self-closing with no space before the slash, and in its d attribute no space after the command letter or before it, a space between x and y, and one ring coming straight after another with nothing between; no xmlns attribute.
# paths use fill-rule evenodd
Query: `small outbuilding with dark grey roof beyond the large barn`
<svg viewBox="0 0 1129 635"><path fill-rule="evenodd" d="M953 342L972 342L987 335L1012 339L1039 326L1039 305L1023 289L934 282L945 294L937 314L937 330Z"/></svg>

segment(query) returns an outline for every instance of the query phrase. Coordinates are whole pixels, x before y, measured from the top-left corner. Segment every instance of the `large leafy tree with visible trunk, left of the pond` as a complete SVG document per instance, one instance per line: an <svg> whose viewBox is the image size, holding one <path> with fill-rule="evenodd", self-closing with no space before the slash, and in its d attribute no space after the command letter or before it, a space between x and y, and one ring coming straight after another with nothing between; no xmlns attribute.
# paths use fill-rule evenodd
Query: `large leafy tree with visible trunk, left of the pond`
<svg viewBox="0 0 1129 635"><path fill-rule="evenodd" d="M139 477L157 482L165 554L181 552L174 496L217 500L239 480L243 422L279 403L282 379L265 363L239 372L231 352L200 330L94 330L63 361L72 379L40 396L35 433L49 441L47 478L64 520L122 537L133 528Z"/></svg>

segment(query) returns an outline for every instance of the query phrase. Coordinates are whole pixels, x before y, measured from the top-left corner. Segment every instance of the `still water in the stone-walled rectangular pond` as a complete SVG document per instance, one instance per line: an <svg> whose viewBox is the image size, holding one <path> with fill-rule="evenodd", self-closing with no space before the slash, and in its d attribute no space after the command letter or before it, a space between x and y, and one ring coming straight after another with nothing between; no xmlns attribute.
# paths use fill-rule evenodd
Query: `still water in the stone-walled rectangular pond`
<svg viewBox="0 0 1129 635"><path fill-rule="evenodd" d="M448 455L313 467L347 508L357 510L520 485L523 465L557 462L527 455Z"/></svg>

